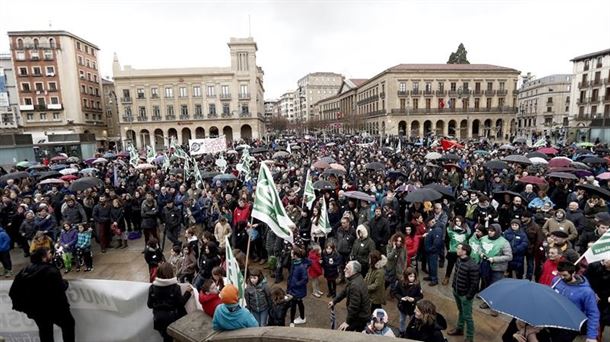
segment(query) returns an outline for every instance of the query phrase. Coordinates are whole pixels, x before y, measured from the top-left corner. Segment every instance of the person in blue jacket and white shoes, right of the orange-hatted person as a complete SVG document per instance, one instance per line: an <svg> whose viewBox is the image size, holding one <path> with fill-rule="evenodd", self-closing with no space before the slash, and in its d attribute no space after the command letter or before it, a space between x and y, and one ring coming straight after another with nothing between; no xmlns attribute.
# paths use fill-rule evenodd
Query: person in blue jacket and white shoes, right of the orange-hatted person
<svg viewBox="0 0 610 342"><path fill-rule="evenodd" d="M288 275L288 294L292 296L292 302L290 305L290 323L291 324L304 324L307 322L305 319L305 305L303 305L303 298L307 297L307 267L309 267L309 259L305 258L305 250L299 247L292 249L292 268L290 269L290 275ZM299 307L299 313L301 316L295 319L296 308Z"/></svg>

